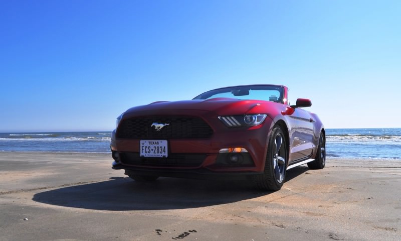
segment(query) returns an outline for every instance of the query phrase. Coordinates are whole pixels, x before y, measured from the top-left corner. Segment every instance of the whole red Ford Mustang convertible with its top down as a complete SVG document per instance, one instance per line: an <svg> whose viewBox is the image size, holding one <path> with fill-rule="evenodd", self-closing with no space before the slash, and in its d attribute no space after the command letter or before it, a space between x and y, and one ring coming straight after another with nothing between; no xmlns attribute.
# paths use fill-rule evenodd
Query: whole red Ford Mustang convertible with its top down
<svg viewBox="0 0 401 241"><path fill-rule="evenodd" d="M325 165L324 127L301 108L311 104L290 105L286 86L242 85L136 106L117 118L112 168L136 181L241 177L279 190L288 169Z"/></svg>

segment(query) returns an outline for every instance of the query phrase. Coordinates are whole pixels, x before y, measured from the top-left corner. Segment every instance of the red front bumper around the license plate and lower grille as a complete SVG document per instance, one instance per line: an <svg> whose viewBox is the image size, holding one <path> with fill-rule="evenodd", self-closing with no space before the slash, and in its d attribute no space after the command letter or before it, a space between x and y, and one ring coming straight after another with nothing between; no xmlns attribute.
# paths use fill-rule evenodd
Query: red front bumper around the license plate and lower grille
<svg viewBox="0 0 401 241"><path fill-rule="evenodd" d="M197 113L196 116L202 117L210 125L214 131L212 137L167 140L168 158L139 157L140 140L116 138L114 130L110 144L115 160L113 169L125 169L126 172L142 175L175 177L263 173L268 134L273 124L271 118L267 117L258 127L227 128L216 115L211 116L206 111ZM230 163L230 154L219 153L221 149L232 147L242 147L248 151L238 154L241 162Z"/></svg>

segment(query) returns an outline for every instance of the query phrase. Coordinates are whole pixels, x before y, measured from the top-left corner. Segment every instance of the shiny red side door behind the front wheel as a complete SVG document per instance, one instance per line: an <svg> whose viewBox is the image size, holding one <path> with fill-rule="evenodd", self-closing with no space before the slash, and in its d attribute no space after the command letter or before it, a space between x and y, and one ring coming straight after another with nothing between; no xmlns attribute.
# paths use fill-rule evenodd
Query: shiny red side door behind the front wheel
<svg viewBox="0 0 401 241"><path fill-rule="evenodd" d="M295 108L290 114L290 160L297 161L312 154L313 119L308 111Z"/></svg>

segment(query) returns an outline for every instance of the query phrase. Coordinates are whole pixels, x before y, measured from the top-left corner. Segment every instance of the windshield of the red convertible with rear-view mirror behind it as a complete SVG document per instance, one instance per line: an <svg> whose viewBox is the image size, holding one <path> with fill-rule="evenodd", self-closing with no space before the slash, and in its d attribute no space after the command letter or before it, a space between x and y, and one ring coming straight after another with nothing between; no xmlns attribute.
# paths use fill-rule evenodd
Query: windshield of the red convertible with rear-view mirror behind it
<svg viewBox="0 0 401 241"><path fill-rule="evenodd" d="M236 98L258 99L283 103L284 88L277 85L247 85L214 89L193 99Z"/></svg>

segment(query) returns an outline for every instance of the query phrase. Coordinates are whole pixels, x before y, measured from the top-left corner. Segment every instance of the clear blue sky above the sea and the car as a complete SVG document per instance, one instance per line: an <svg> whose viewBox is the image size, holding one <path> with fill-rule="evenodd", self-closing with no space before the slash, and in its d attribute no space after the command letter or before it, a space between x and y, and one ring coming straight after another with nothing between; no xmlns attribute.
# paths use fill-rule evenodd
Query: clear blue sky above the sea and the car
<svg viewBox="0 0 401 241"><path fill-rule="evenodd" d="M326 128L401 127L401 1L0 1L0 132L283 84Z"/></svg>

